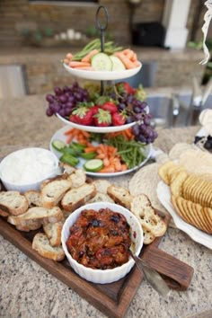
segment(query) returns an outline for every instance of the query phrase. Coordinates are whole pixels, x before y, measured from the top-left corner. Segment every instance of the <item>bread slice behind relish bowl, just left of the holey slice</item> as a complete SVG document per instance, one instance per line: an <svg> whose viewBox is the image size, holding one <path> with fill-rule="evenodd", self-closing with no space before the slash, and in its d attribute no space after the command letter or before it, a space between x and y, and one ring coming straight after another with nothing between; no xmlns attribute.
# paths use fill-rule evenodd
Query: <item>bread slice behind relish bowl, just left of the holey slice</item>
<svg viewBox="0 0 212 318"><path fill-rule="evenodd" d="M115 185L110 185L110 187L108 187L107 192L110 198L113 199L120 206L123 206L128 209L130 208L133 197L130 195L127 189L117 187Z"/></svg>

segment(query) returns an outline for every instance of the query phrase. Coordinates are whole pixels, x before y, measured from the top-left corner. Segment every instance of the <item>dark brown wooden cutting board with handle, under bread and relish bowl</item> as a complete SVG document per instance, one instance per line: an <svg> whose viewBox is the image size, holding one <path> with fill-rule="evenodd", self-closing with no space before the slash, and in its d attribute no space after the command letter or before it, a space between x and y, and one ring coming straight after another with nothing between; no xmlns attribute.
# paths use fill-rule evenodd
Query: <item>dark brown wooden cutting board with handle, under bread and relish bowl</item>
<svg viewBox="0 0 212 318"><path fill-rule="evenodd" d="M158 213L163 216L159 211ZM169 224L170 216L163 216L166 224ZM44 259L37 252L32 250L31 242L34 234L38 231L24 233L16 230L13 225L0 217L0 234L6 240L13 243L19 250L36 261L49 273L71 287L80 296L84 297L91 305L114 318L122 318L128 311L128 306L137 293L144 276L137 269L137 266L128 273L125 278L110 284L93 284L84 278L80 278L75 271L70 268L68 262L56 262ZM169 287L176 290L186 290L190 285L193 269L182 261L177 260L166 252L158 248L163 237L158 237L155 241L145 246L140 257L156 269L166 280Z"/></svg>

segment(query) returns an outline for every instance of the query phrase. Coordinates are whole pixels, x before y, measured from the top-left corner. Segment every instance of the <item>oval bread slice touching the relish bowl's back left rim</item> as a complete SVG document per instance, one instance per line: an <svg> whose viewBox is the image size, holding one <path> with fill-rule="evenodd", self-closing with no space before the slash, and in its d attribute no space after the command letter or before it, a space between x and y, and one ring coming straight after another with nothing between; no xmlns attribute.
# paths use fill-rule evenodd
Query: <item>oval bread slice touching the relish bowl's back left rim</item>
<svg viewBox="0 0 212 318"><path fill-rule="evenodd" d="M96 195L96 189L92 183L84 183L81 187L66 192L61 204L66 211L73 212L82 207L87 201Z"/></svg>

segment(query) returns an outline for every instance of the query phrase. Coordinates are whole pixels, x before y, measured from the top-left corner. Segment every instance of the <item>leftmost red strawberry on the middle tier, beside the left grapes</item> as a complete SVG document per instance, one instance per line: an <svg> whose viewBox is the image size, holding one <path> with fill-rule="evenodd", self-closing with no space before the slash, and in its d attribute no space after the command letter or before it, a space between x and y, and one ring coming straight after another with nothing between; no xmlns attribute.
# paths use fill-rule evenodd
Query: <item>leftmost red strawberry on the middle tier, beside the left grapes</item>
<svg viewBox="0 0 212 318"><path fill-rule="evenodd" d="M87 107L80 107L72 111L69 117L70 121L75 122L79 125L92 126L93 124L93 111Z"/></svg>

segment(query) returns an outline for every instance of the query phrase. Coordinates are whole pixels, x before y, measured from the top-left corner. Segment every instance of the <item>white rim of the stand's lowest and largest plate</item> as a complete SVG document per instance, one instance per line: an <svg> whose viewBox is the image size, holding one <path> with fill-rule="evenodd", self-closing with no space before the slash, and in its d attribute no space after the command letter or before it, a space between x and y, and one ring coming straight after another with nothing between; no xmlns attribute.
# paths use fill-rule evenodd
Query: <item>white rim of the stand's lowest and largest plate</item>
<svg viewBox="0 0 212 318"><path fill-rule="evenodd" d="M54 139L59 139L59 137L57 137L58 134L64 136L65 131L68 130L68 129L70 129L69 126L65 126L65 127L63 127L63 128L58 129L58 130L56 131L56 133L55 133L55 134L51 137L51 139L50 139L49 149L50 149L50 151L51 151L53 154L57 155L57 158L59 158L59 156L61 156L61 154L60 154L55 148L53 148L53 146L51 145L51 144L52 144L52 141L53 141ZM64 137L63 141L65 141L65 137ZM140 163L139 165L135 166L134 168L128 169L128 170L126 170L126 171L124 171L124 172L110 172L110 173L86 172L86 171L84 171L84 172L85 172L87 175L90 175L90 176L93 176L93 177L117 177L117 176L120 176L120 175L123 175L123 174L127 174L127 173L130 173L130 172L134 172L134 171L137 170L138 168L142 167L142 166L149 160L149 158L150 158L151 155L152 155L152 152L153 152L153 146L152 146L152 144L147 145L147 146L146 146L146 153L147 153L146 159L145 159L142 163ZM81 160L81 162L84 162L84 159L80 159L80 160ZM76 168L77 168L77 166L76 166ZM80 167L79 167L78 169L80 169Z"/></svg>

